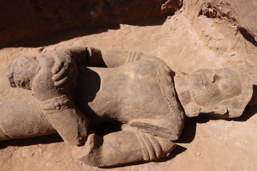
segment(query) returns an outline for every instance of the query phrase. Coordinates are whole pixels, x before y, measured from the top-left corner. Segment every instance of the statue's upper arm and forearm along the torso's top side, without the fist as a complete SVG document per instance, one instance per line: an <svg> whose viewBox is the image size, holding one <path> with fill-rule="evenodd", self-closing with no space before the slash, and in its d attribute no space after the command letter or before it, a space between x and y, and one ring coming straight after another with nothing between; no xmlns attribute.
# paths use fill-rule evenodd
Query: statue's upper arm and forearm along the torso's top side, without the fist
<svg viewBox="0 0 257 171"><path fill-rule="evenodd" d="M70 56L77 65L102 68L115 68L137 60L154 60L157 62L163 62L160 58L150 55L144 55L141 52L128 52L122 50L99 50L97 48L87 48L84 46L59 48L55 51L49 52L47 55L53 56L55 58L57 66L59 65L58 62L61 61L60 59L58 59L59 56L63 55Z"/></svg>

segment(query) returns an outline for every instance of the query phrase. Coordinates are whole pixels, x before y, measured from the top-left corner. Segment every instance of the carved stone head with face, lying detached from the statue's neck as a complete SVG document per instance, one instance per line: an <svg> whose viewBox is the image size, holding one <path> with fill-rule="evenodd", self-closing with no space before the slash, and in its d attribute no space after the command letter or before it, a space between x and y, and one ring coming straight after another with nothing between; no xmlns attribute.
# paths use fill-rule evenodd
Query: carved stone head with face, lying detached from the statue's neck
<svg viewBox="0 0 257 171"><path fill-rule="evenodd" d="M200 113L241 116L253 94L253 80L240 68L202 69L176 73L178 98L188 117Z"/></svg>

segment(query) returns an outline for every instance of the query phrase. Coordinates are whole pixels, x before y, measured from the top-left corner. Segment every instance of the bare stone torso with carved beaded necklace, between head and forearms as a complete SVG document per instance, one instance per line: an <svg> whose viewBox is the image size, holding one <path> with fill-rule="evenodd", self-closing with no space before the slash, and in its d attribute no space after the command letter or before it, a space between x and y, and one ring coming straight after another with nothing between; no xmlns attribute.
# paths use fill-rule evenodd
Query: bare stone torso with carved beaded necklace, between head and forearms
<svg viewBox="0 0 257 171"><path fill-rule="evenodd" d="M79 67L79 106L93 124L120 121L175 140L184 123L172 71L163 63L135 61L118 68Z"/></svg>

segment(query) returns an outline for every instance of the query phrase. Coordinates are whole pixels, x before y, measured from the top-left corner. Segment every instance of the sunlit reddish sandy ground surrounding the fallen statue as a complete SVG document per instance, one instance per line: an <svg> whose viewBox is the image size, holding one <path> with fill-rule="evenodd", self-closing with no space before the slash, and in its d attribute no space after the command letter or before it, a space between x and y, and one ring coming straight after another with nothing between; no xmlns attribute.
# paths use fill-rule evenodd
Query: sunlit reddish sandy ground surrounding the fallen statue
<svg viewBox="0 0 257 171"><path fill-rule="evenodd" d="M141 51L164 60L174 72L237 65L256 73L254 45L226 20L198 17L189 23L183 12L116 26L74 29L37 38L23 47L0 50L0 67L19 55L44 54L63 46ZM235 35L236 34L236 35ZM246 51L247 49L247 51ZM156 162L111 168L89 167L71 156L71 145L58 134L0 142L0 170L249 170L257 169L257 107L235 119L187 118L178 146ZM15 125L14 125L15 126Z"/></svg>

